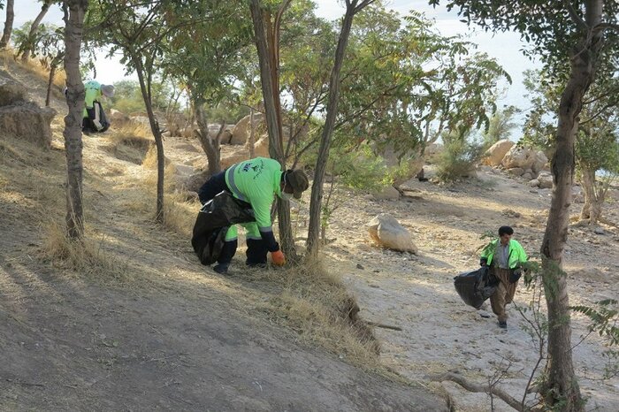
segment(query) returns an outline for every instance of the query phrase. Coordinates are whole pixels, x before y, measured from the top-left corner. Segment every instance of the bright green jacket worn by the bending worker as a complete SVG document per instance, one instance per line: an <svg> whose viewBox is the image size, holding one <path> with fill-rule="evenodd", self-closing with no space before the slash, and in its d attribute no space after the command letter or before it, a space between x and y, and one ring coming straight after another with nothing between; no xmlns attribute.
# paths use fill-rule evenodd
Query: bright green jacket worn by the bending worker
<svg viewBox="0 0 619 412"><path fill-rule="evenodd" d="M271 205L281 195L281 165L277 160L256 157L233 164L225 171L225 184L234 197L251 204L260 232L272 232Z"/></svg>

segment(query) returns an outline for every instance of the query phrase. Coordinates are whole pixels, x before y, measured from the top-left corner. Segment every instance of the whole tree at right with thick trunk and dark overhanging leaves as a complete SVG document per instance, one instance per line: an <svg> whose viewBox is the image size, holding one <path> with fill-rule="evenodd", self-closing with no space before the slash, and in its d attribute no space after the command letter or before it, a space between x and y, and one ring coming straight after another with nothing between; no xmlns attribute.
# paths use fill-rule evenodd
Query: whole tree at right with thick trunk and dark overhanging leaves
<svg viewBox="0 0 619 412"><path fill-rule="evenodd" d="M430 3L438 4L439 0ZM584 410L572 362L567 278L561 267L568 234L579 115L600 63L608 58L608 46L616 44L619 4L612 0L447 1L448 10L454 6L469 23L475 22L485 29L520 32L553 75L565 74L556 111L553 198L540 250L550 326L546 377L540 390L549 408Z"/></svg>

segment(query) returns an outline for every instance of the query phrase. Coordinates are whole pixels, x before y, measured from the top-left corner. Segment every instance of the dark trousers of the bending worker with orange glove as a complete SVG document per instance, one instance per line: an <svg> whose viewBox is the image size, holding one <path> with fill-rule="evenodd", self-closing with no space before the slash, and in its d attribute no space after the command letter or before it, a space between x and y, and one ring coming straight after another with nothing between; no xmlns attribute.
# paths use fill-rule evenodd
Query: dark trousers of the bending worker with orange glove
<svg viewBox="0 0 619 412"><path fill-rule="evenodd" d="M200 198L200 202L204 204L223 191L230 192L230 189L225 184L225 171L211 176L198 190L198 197ZM268 250L264 240L248 239L247 244L247 261L245 263L249 266L265 264ZM238 245L238 240L226 241L219 255L218 263L225 264L232 262Z"/></svg>

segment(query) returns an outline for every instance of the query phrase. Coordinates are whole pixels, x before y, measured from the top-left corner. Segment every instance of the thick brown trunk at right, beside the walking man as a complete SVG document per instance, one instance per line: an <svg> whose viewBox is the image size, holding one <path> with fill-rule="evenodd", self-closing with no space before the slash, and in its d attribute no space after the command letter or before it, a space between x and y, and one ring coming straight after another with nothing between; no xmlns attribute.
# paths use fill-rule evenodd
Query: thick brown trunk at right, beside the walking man
<svg viewBox="0 0 619 412"><path fill-rule="evenodd" d="M602 0L587 0L586 23L589 27L600 24L602 5ZM547 406L561 403L562 411L584 410L572 362L568 285L562 271L574 179L578 115L582 109L583 96L595 77L596 59L602 42L601 32L583 35L585 39L577 44L570 58L569 80L559 104L556 151L552 161L553 198L540 250L549 324L547 374L543 388Z"/></svg>

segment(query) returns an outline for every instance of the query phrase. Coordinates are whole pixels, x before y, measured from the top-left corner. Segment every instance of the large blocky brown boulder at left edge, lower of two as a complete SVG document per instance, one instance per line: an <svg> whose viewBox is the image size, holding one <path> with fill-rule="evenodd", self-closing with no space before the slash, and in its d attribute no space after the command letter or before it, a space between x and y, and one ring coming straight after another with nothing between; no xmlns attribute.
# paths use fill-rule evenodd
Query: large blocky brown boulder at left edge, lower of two
<svg viewBox="0 0 619 412"><path fill-rule="evenodd" d="M4 98L0 92L0 98ZM56 111L50 107L40 108L34 103L19 102L0 107L0 135L12 135L24 141L32 141L44 149L51 147L51 120Z"/></svg>

